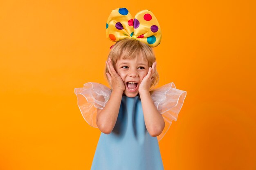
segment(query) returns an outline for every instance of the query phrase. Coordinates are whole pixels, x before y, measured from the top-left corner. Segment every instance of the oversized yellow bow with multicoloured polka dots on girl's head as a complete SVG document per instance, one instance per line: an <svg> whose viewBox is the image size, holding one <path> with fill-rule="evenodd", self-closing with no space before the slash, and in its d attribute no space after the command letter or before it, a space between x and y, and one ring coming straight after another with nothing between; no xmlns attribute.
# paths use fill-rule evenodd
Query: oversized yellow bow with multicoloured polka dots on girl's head
<svg viewBox="0 0 256 170"><path fill-rule="evenodd" d="M117 8L108 17L106 35L111 41L130 38L155 47L161 42L162 31L151 11L139 11L133 19L128 9Z"/></svg>

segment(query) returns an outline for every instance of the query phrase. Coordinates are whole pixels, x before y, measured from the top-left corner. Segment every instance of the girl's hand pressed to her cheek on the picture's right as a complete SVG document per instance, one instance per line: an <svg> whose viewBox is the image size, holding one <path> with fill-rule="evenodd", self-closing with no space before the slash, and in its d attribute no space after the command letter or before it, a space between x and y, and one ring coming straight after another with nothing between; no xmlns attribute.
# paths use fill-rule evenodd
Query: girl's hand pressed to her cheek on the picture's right
<svg viewBox="0 0 256 170"><path fill-rule="evenodd" d="M151 82L153 80L153 74L156 70L157 62L154 62L152 65L152 68L148 68L148 74L142 79L141 84L139 85L139 93L142 91L149 91L149 88L151 86Z"/></svg>

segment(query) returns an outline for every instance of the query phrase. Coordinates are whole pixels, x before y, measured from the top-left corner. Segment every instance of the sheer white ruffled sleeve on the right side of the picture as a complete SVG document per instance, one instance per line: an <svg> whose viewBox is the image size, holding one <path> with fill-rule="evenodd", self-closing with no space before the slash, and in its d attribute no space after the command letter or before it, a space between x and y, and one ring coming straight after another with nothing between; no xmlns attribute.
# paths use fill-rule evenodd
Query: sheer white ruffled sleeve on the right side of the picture
<svg viewBox="0 0 256 170"><path fill-rule="evenodd" d="M163 132L157 136L158 141L160 141L170 128L172 120L177 121L178 114L186 97L186 91L177 89L175 84L171 82L155 89L151 97L165 121Z"/></svg>

